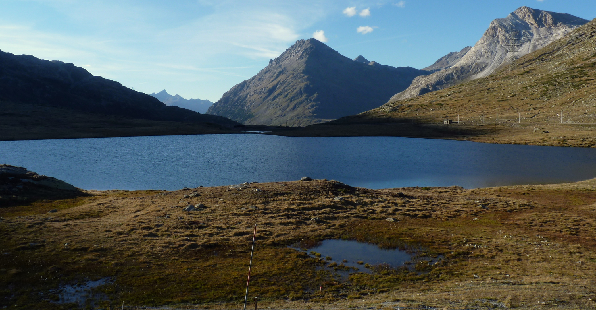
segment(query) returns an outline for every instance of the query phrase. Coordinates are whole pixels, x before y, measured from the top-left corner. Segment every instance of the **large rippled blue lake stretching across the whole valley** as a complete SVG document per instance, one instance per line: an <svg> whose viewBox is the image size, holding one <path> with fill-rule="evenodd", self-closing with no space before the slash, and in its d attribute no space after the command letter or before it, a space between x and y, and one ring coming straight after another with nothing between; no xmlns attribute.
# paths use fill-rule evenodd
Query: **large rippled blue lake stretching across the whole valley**
<svg viewBox="0 0 596 310"><path fill-rule="evenodd" d="M371 189L474 188L592 179L596 148L403 137L208 134L2 141L0 164L98 190L175 190L303 176Z"/></svg>

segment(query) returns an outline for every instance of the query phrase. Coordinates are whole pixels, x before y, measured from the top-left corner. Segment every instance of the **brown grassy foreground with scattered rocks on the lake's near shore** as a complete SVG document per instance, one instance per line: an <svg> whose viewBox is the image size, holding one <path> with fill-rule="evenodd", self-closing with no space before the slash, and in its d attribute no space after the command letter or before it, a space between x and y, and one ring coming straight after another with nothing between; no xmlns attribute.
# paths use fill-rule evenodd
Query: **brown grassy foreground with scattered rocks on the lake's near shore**
<svg viewBox="0 0 596 310"><path fill-rule="evenodd" d="M314 180L106 191L15 206L0 221L0 252L10 253L0 255L2 305L68 308L47 301L48 290L112 277L101 288L110 297L105 306L238 308L256 223L249 300L259 297L262 308L592 307L595 186L370 190ZM183 198L193 192L200 196ZM187 202L207 208L182 211ZM60 211L46 214L49 203ZM421 246L412 262L419 272L371 266L373 274L342 281L320 268L324 257L285 247L328 238Z"/></svg>

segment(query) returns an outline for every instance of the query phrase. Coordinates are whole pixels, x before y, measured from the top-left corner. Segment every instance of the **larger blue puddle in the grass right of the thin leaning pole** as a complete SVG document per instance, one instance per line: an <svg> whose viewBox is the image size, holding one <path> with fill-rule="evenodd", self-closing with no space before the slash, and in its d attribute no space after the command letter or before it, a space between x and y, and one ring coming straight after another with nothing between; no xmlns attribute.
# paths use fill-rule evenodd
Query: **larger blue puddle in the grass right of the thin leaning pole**
<svg viewBox="0 0 596 310"><path fill-rule="evenodd" d="M414 270L414 264L408 263L420 252L420 249L383 249L373 243L339 239L300 242L289 248L305 251L313 258L325 259L325 269L342 276L354 272L373 273L371 269L375 267ZM431 264L439 258L425 258L427 261L429 259Z"/></svg>

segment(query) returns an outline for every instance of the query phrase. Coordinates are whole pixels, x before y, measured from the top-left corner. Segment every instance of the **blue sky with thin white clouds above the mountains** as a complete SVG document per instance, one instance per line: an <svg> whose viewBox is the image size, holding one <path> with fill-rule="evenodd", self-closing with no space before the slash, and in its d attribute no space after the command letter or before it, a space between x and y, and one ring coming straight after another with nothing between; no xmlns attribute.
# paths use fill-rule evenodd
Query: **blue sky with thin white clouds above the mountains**
<svg viewBox="0 0 596 310"><path fill-rule="evenodd" d="M594 0L0 0L0 49L215 102L321 30L346 57L423 68L522 5L596 17Z"/></svg>

